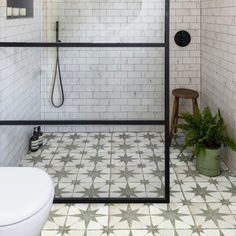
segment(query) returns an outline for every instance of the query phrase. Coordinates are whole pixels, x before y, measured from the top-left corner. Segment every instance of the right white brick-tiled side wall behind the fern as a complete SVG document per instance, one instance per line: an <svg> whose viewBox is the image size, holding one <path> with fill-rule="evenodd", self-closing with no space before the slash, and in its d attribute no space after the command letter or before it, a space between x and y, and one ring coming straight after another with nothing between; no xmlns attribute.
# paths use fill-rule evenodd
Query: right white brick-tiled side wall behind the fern
<svg viewBox="0 0 236 236"><path fill-rule="evenodd" d="M202 0L201 94L203 105L220 108L236 137L236 1ZM236 173L235 152L225 160Z"/></svg>

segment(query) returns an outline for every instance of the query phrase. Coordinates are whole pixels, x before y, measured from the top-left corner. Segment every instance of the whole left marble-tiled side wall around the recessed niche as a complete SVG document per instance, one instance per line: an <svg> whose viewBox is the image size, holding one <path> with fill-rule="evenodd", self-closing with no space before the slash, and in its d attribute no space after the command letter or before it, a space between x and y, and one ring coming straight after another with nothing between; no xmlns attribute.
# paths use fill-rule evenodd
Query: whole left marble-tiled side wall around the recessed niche
<svg viewBox="0 0 236 236"><path fill-rule="evenodd" d="M40 41L40 1L34 18L6 19L6 1L0 1L0 41ZM0 119L40 117L40 50L1 48ZM31 127L0 127L0 166L15 166L28 150Z"/></svg>

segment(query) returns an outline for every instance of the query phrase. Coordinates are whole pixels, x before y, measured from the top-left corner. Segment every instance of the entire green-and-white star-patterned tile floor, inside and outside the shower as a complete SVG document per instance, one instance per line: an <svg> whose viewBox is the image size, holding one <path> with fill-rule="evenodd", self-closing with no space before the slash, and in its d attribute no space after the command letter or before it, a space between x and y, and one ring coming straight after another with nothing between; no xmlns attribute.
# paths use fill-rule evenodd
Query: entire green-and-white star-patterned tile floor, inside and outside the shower
<svg viewBox="0 0 236 236"><path fill-rule="evenodd" d="M73 149L80 146L81 137L84 145L77 152L81 154L81 159L78 160L72 154L75 153ZM170 204L54 204L42 236L236 236L236 177L223 163L219 177L200 175L195 169L195 160L191 158L190 152L178 157L181 140L182 136L175 137L171 147ZM108 196L119 197L142 197L145 194L147 197L163 196L164 156L161 133L53 133L45 135L45 141L41 150L27 155L22 165L48 171L54 180L57 196L74 196L79 193L81 195L76 196L101 197L107 194L106 191L109 192ZM107 146L111 147L109 158L105 155L108 154ZM92 152L89 151L90 147L95 150L95 155L94 152L89 155ZM99 163L107 159L110 159L110 163L106 162L110 175L106 173L101 177L96 174L95 178L91 170L97 173ZM76 165L81 169L90 166L90 169L81 173L78 171L76 178L74 175L62 174L69 171L70 166ZM57 166L58 169L55 169ZM123 175L121 171L125 170L133 172ZM81 184L81 189L78 189L76 184L87 183L82 181L84 175L90 185L87 187L86 184ZM97 178L104 179L105 181L100 182L105 182L108 187L99 186ZM156 182L152 182L152 178L156 178ZM66 182L65 179L70 181ZM114 181L116 179L122 181ZM76 180L75 183L73 180ZM68 185L73 187L67 188L65 183L70 183ZM117 183L125 183L125 186ZM144 186L140 190L133 183ZM78 191L75 191L76 188Z"/></svg>

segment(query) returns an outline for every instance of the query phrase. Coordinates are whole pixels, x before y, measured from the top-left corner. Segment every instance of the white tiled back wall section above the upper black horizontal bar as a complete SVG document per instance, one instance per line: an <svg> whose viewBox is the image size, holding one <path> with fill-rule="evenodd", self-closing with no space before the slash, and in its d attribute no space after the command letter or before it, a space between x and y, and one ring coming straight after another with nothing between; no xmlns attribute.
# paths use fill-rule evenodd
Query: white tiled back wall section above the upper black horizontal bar
<svg viewBox="0 0 236 236"><path fill-rule="evenodd" d="M59 21L62 42L163 43L164 8L163 0L47 1L43 36L55 40Z"/></svg>

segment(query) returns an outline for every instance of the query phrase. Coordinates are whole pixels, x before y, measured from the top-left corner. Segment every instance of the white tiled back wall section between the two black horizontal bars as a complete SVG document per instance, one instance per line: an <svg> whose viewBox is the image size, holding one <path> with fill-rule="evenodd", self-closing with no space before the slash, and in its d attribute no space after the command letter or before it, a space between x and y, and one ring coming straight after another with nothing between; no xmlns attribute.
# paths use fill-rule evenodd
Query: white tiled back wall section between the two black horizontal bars
<svg viewBox="0 0 236 236"><path fill-rule="evenodd" d="M42 77L43 119L164 118L163 49L61 49L60 58L65 104L55 109L48 102L54 63L51 68L47 64L49 73L43 71Z"/></svg>

